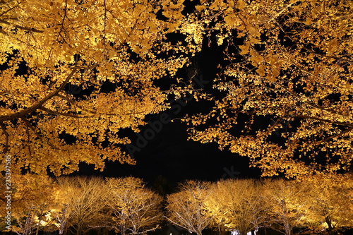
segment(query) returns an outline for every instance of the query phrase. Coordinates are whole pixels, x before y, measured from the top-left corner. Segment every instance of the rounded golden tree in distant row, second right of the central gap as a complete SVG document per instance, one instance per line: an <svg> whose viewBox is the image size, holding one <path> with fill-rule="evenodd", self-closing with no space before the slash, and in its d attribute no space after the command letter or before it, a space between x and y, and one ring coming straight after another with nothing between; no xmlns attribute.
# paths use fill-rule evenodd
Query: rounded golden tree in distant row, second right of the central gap
<svg viewBox="0 0 353 235"><path fill-rule="evenodd" d="M261 198L260 183L252 179L228 179L211 186L212 193L205 199L205 208L212 218L212 225L225 234L257 233L269 224L266 212L268 202Z"/></svg>

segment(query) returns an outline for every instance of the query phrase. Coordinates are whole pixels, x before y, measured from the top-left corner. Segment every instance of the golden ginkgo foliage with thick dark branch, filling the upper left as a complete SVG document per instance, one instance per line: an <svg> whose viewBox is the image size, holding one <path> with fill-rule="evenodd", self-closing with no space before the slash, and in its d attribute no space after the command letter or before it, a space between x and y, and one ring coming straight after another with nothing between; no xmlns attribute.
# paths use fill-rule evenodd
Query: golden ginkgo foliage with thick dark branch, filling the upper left
<svg viewBox="0 0 353 235"><path fill-rule="evenodd" d="M76 171L80 162L96 169L105 159L133 164L121 150L130 140L119 130L138 132L146 115L167 109L168 92L155 80L175 76L200 49L200 42L167 38L178 32L196 42L192 30L183 30L191 24L183 6L0 1L1 158L13 156L13 171L56 175Z"/></svg>

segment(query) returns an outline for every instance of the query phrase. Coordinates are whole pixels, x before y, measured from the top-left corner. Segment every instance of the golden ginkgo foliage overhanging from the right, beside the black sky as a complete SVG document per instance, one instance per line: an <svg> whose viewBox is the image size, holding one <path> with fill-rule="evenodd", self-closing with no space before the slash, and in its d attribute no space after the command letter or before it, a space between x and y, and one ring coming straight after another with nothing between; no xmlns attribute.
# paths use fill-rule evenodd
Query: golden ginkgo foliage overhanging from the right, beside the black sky
<svg viewBox="0 0 353 235"><path fill-rule="evenodd" d="M249 157L263 176L349 170L353 159L352 1L201 1L224 61L191 139ZM217 20L214 20L217 19Z"/></svg>

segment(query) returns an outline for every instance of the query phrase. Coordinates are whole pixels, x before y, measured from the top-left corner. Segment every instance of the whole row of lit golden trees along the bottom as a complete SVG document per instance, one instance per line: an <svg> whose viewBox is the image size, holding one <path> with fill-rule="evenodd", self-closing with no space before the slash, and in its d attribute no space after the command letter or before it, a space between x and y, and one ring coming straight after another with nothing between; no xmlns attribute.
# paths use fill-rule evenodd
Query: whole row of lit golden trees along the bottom
<svg viewBox="0 0 353 235"><path fill-rule="evenodd" d="M13 179L11 221L1 207L1 230L85 234L91 229L146 234L169 222L198 235L212 228L225 234L258 234L270 228L286 235L337 234L353 227L352 175L285 179L185 181L163 197L134 177L59 177L37 174ZM6 204L4 188L1 202ZM1 203L2 204L2 203ZM10 227L8 227L10 224Z"/></svg>

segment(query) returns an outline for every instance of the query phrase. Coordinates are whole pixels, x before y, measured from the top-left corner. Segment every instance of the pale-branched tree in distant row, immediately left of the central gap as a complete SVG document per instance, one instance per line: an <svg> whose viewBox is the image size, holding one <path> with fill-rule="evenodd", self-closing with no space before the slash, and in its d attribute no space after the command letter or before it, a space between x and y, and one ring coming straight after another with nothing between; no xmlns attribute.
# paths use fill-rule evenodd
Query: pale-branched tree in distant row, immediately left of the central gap
<svg viewBox="0 0 353 235"><path fill-rule="evenodd" d="M162 219L162 197L134 177L108 178L107 204L112 210L112 227L121 234L153 231Z"/></svg>

